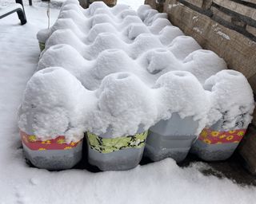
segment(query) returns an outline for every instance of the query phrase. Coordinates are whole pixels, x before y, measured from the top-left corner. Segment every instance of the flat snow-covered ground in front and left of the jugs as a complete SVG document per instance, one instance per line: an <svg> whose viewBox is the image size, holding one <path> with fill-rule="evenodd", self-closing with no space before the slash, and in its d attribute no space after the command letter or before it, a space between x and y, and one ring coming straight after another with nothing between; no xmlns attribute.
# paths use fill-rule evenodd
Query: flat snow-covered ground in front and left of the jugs
<svg viewBox="0 0 256 204"><path fill-rule="evenodd" d="M10 0L3 0L6 5ZM14 2L14 1L13 1ZM143 1L123 0L134 8ZM25 2L27 5L28 3ZM57 7L54 2L53 7ZM58 10L51 10L52 22ZM18 135L17 108L38 63L36 33L47 26L46 3L26 6L28 23L16 14L0 20L0 204L13 203L256 203L256 188L202 175L205 164L181 168L172 159L131 171L50 172L28 167Z"/></svg>

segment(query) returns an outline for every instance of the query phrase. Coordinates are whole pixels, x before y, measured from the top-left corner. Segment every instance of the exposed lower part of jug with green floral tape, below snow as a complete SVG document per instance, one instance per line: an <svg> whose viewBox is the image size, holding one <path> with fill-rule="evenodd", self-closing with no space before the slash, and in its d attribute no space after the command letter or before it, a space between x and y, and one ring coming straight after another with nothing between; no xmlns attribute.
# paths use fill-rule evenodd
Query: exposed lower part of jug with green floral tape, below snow
<svg viewBox="0 0 256 204"><path fill-rule="evenodd" d="M136 135L106 138L104 135L87 133L88 160L102 171L125 171L138 166L145 147L147 131Z"/></svg>

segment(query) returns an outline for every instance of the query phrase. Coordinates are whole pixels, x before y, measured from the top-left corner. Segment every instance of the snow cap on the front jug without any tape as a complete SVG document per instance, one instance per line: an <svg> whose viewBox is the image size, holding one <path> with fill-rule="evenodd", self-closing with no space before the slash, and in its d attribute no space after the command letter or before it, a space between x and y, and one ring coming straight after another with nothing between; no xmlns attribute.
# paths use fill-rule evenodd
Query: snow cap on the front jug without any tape
<svg viewBox="0 0 256 204"><path fill-rule="evenodd" d="M198 135L207 123L210 100L202 85L193 74L173 71L163 74L156 82L158 91L158 121L170 119L177 112L181 118L193 116L198 120Z"/></svg>

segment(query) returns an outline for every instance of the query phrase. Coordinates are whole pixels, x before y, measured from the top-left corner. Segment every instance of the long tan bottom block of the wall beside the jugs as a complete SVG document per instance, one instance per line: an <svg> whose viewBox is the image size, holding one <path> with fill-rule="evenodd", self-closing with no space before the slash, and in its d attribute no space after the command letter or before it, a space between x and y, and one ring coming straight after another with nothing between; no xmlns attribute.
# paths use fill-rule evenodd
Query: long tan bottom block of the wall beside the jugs
<svg viewBox="0 0 256 204"><path fill-rule="evenodd" d="M230 69L238 70L248 79L254 77L256 42L176 0L166 0L164 11L174 26L178 26L186 35L194 37L204 49L210 49L224 58ZM202 32L197 32L198 29ZM254 80L249 81L256 93Z"/></svg>

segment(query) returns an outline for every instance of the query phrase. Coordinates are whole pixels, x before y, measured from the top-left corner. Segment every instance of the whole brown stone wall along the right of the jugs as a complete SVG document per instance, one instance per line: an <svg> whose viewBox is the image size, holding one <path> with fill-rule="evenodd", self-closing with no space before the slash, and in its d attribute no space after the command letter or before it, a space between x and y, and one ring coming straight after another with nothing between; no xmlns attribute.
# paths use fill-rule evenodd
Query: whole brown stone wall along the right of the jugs
<svg viewBox="0 0 256 204"><path fill-rule="evenodd" d="M145 3L166 12L170 22L194 37L203 49L218 53L229 69L243 73L256 96L256 0L146 0ZM256 126L256 110L252 124ZM239 147L240 155L254 174L255 126L250 126Z"/></svg>

